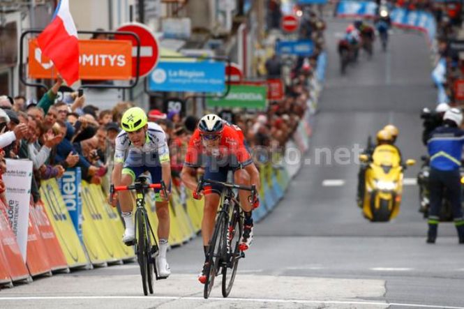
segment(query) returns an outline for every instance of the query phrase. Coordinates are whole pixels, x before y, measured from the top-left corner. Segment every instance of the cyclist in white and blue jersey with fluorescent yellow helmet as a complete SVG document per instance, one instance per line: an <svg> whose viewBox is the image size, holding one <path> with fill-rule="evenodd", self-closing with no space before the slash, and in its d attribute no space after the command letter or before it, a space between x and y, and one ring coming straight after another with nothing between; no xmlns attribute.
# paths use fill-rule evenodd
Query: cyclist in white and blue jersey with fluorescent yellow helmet
<svg viewBox="0 0 464 309"><path fill-rule="evenodd" d="M114 186L130 186L140 174L149 172L151 183L160 183L161 180L167 186L167 194L170 193L171 166L169 148L166 135L158 124L148 122L147 114L140 107L132 107L127 110L121 119L123 131L116 137L116 149L114 152L114 169L112 183ZM166 252L169 244L170 214L168 197L160 190L156 192L156 215L158 216L159 256L156 259L158 276L170 275L170 267L167 264ZM119 198L122 217L126 223L123 241L132 246L135 241L135 225L133 221L133 199L129 191L114 193ZM117 196L116 196L117 195ZM113 198L113 200L117 200Z"/></svg>

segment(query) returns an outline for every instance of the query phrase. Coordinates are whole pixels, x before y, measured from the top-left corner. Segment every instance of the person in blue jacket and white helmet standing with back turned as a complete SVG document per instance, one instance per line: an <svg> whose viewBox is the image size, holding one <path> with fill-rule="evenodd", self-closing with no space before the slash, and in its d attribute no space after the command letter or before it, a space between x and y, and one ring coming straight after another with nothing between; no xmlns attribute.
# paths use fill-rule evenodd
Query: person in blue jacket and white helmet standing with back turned
<svg viewBox="0 0 464 309"><path fill-rule="evenodd" d="M463 114L457 108L444 113L443 126L433 130L428 138L428 155L430 156L430 204L428 216L427 243L435 243L440 206L444 188L453 210L454 225L458 232L459 243L464 244L464 218L461 209L461 157L464 146L464 130L459 128Z"/></svg>

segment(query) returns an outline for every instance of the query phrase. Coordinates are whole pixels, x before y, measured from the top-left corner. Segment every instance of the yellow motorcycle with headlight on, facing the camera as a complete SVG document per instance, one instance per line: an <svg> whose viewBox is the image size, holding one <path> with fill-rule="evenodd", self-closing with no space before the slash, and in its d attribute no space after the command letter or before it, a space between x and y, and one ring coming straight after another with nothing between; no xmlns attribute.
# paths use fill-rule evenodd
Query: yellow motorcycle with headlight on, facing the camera
<svg viewBox="0 0 464 309"><path fill-rule="evenodd" d="M400 153L389 144L377 146L371 160L365 154L359 156L362 163L369 164L366 169L366 183L362 209L364 216L371 222L387 222L400 211L403 193L403 170ZM406 165L416 164L407 160Z"/></svg>

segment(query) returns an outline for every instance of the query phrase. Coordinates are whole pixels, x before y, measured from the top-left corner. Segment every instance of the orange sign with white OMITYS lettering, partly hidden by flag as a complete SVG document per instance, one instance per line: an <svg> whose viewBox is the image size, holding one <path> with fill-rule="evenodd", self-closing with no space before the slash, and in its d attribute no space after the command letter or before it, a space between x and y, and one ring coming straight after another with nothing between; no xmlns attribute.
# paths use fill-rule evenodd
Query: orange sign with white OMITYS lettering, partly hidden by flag
<svg viewBox="0 0 464 309"><path fill-rule="evenodd" d="M128 40L79 40L81 80L130 80L132 78L132 43ZM29 77L53 79L57 69L29 40Z"/></svg>

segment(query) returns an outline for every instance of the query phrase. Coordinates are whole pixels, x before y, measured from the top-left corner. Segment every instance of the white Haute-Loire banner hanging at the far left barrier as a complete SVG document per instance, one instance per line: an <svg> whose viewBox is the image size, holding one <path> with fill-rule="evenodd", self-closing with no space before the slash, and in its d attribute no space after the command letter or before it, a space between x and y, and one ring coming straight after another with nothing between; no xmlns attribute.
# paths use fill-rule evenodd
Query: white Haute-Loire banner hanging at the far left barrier
<svg viewBox="0 0 464 309"><path fill-rule="evenodd" d="M29 225L29 201L31 199L32 161L6 159L6 201L8 219L22 258L27 258L27 229Z"/></svg>

